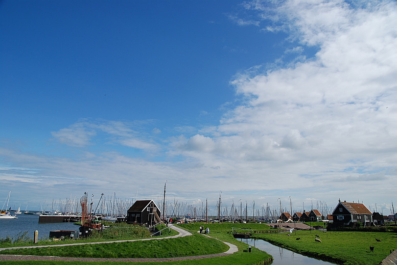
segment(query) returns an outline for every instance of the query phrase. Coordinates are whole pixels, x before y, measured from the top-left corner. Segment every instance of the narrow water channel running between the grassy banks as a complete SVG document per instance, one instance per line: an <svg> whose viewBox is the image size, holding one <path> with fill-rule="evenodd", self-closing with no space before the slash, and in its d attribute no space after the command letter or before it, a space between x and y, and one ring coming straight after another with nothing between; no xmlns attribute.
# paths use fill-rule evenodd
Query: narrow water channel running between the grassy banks
<svg viewBox="0 0 397 265"><path fill-rule="evenodd" d="M255 247L257 249L263 250L266 253L273 256L272 265L335 265L334 263L322 261L315 258L310 258L291 250L274 246L269 242L264 240L253 240L253 239L239 239L240 241Z"/></svg>

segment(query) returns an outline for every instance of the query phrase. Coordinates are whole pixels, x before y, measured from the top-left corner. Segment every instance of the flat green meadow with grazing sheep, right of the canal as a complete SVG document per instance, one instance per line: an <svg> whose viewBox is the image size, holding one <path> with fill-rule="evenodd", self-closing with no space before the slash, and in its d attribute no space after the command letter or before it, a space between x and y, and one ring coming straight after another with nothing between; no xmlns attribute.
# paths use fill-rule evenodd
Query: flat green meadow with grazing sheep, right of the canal
<svg viewBox="0 0 397 265"><path fill-rule="evenodd" d="M321 243L314 241L315 235L320 236ZM334 261L349 265L379 264L397 248L396 233L381 232L334 232L328 231L297 231L287 234L254 234L255 239L263 239L272 244L290 249L302 255ZM300 237L300 240L296 240ZM381 240L377 242L375 239ZM369 246L375 247L373 252Z"/></svg>

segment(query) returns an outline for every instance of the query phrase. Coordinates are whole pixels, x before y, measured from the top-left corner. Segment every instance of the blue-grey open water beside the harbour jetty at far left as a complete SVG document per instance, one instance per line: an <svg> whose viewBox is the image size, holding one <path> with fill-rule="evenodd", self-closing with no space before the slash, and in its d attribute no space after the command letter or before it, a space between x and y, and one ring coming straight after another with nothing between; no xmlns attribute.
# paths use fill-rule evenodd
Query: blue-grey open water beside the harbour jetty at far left
<svg viewBox="0 0 397 265"><path fill-rule="evenodd" d="M14 215L14 212L11 212ZM19 233L28 231L28 236L33 239L34 231L39 231L39 239L49 237L50 231L54 230L71 230L78 231L79 226L73 223L51 223L39 224L38 215L17 215L18 219L0 219L0 238L5 239L7 236L15 237Z"/></svg>

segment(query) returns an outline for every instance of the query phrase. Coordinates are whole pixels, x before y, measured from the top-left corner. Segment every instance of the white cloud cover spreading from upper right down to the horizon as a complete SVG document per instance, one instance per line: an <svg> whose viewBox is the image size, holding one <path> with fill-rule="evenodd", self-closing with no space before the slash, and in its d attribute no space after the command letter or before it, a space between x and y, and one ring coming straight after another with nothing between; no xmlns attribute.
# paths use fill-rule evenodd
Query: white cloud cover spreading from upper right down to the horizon
<svg viewBox="0 0 397 265"><path fill-rule="evenodd" d="M316 56L266 70L253 66L236 75L231 84L242 103L217 126L173 128L185 136L162 139L169 146L159 147L161 141L153 137L160 129L152 129L151 122L83 120L52 133L74 147L99 139L112 147L169 148L167 161L131 158L118 148L83 149L73 158L3 148L10 163L40 171L2 172L0 186L15 180L45 194L46 185L67 183L72 190L78 182L98 194L107 189L133 197L139 189L141 196L159 196L164 185L159 179L167 179L171 194L196 203L220 190L222 198L262 198L275 204L289 195L331 203L363 194L368 201L388 199L397 189L397 7L394 2L371 3L246 3L263 23L271 21L270 28L297 40L288 54L315 45ZM251 20L259 25L251 16L241 21ZM306 200L318 200L310 198Z"/></svg>

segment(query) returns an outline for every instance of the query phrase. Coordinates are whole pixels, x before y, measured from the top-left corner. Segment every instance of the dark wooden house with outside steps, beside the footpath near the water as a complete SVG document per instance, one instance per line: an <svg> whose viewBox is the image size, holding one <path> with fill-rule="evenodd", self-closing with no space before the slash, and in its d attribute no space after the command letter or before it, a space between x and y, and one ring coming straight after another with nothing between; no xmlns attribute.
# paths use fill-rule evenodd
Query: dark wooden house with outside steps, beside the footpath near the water
<svg viewBox="0 0 397 265"><path fill-rule="evenodd" d="M127 223L153 225L161 222L161 211L152 200L140 200L127 210Z"/></svg>

